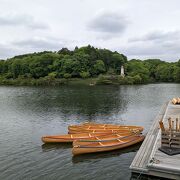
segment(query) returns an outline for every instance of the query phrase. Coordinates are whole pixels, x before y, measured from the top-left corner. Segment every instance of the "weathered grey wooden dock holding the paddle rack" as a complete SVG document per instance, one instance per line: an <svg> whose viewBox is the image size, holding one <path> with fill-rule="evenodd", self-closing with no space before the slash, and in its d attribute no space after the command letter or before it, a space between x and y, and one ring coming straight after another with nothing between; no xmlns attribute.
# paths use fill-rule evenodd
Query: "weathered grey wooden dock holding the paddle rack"
<svg viewBox="0 0 180 180"><path fill-rule="evenodd" d="M180 120L180 105L171 102L163 105L130 166L132 173L180 179L180 154L169 156L158 150L161 146L159 121L163 120L167 127L169 117Z"/></svg>

